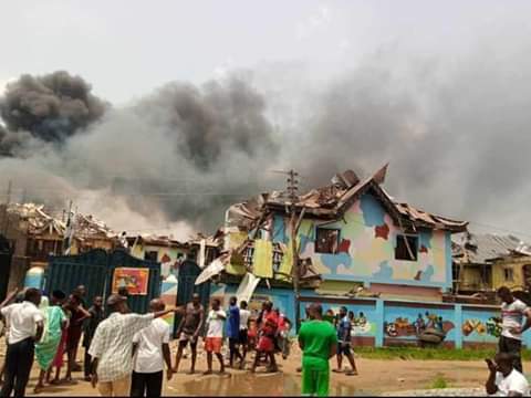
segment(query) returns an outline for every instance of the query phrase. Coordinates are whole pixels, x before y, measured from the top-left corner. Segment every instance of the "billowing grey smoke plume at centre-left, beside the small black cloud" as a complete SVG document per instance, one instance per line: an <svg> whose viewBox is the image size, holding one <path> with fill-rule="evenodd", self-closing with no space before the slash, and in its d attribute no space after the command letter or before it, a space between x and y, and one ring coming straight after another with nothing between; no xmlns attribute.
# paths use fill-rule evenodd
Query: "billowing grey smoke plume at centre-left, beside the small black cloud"
<svg viewBox="0 0 531 398"><path fill-rule="evenodd" d="M72 198L132 233L210 231L228 205L264 189L257 179L279 148L264 112L263 97L242 77L171 83L108 109L60 147L24 140L23 156L0 159L0 184L9 176L29 187L27 199L56 208Z"/></svg>

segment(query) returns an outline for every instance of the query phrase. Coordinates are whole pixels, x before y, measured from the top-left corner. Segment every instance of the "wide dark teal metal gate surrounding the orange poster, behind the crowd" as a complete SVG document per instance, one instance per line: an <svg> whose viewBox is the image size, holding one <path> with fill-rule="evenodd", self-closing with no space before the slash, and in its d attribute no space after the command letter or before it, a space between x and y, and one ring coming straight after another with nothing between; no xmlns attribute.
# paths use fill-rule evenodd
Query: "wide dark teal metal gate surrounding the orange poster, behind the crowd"
<svg viewBox="0 0 531 398"><path fill-rule="evenodd" d="M114 271L117 268L144 268L149 270L146 295L132 295L128 304L132 311L145 313L149 301L160 294L160 264L155 261L139 260L124 250L107 253L95 249L77 255L51 256L45 275L45 291L72 292L79 285L86 286L87 304L96 295L107 297L111 294Z"/></svg>

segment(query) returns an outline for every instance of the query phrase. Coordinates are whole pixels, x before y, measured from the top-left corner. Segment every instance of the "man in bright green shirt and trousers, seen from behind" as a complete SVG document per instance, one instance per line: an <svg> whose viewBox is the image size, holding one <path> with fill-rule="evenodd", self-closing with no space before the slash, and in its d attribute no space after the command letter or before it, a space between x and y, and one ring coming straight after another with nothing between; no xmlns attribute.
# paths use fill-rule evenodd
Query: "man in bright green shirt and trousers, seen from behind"
<svg viewBox="0 0 531 398"><path fill-rule="evenodd" d="M302 395L329 396L329 359L337 350L337 334L334 326L323 321L323 307L312 304L310 321L302 324L299 332L299 346L302 349Z"/></svg>

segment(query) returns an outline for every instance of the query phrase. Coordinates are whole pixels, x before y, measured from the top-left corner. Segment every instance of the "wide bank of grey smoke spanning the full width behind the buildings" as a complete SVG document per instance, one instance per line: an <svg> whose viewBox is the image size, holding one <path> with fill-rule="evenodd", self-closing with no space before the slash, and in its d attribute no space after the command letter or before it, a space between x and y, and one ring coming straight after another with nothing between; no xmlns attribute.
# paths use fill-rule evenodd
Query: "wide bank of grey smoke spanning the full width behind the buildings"
<svg viewBox="0 0 531 398"><path fill-rule="evenodd" d="M169 83L61 133L60 147L2 116L0 187L12 179L56 207L72 198L132 232L211 232L230 203L283 187L271 170L295 167L312 188L391 161L385 187L397 200L524 230L531 60L485 63L490 53L449 63L382 51L326 83L300 64Z"/></svg>

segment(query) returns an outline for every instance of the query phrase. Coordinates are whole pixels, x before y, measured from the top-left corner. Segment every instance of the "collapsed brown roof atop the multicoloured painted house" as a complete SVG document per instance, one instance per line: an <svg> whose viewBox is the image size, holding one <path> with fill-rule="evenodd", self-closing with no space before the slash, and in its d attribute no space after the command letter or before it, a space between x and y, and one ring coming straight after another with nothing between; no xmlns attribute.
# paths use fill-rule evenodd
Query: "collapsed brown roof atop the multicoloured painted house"
<svg viewBox="0 0 531 398"><path fill-rule="evenodd" d="M408 203L396 202L382 187L387 172L387 165L374 175L360 179L352 170L335 175L332 184L315 188L296 198L298 211L304 209L306 217L340 219L351 206L365 192L375 195L389 216L398 224L408 228L441 229L464 232L468 222L428 213ZM246 202L233 205L228 210L227 226L250 230L261 223L264 213L270 210L284 211L291 206L285 192L261 193Z"/></svg>

